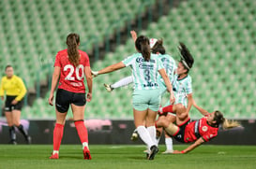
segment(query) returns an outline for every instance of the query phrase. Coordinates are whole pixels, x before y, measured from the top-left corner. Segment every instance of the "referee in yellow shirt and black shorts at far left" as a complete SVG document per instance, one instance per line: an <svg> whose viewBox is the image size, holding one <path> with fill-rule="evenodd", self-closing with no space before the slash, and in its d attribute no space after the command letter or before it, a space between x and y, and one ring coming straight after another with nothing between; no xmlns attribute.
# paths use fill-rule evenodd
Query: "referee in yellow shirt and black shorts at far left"
<svg viewBox="0 0 256 169"><path fill-rule="evenodd" d="M27 144L31 144L31 137L24 130L23 124L20 123L21 110L23 107L23 97L26 93L26 89L23 83L23 79L14 75L13 67L11 65L6 66L6 77L2 77L0 86L0 96L4 100L5 92L6 106L5 114L8 121L10 144L16 145L16 126L19 131L25 137Z"/></svg>

